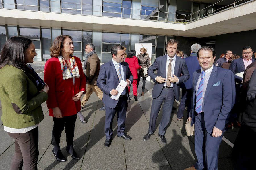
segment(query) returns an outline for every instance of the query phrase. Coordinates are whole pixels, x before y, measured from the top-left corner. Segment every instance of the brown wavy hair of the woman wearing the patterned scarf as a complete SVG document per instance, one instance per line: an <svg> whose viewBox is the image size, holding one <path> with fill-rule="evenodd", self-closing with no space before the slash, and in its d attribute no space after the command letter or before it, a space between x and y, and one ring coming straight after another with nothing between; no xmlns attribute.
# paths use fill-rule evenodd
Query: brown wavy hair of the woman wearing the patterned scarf
<svg viewBox="0 0 256 170"><path fill-rule="evenodd" d="M61 54L61 48L63 48L63 44L64 44L64 40L66 38L70 38L71 40L73 40L73 38L70 35L59 35L58 37L56 37L52 43L52 46L50 48L50 56L51 57L59 57Z"/></svg>

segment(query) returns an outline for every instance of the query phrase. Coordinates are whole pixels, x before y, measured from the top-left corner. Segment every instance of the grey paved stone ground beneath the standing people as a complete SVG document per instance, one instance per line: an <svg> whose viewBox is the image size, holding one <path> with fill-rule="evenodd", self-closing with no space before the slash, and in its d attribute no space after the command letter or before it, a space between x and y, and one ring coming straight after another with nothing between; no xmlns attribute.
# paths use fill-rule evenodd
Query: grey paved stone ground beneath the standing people
<svg viewBox="0 0 256 170"><path fill-rule="evenodd" d="M42 71L37 71L43 76ZM41 73L40 73L41 72ZM98 110L102 101L93 93L81 113L88 123L82 124L77 118L75 124L74 148L80 160L73 160L65 151L65 131L61 136L61 151L67 157L67 162L58 162L52 153L51 131L53 119L49 116L46 103L42 104L44 120L39 124L39 158L38 169L147 169L147 170L183 170L193 165L196 160L194 151L194 137L187 137L185 119L177 121L177 110L172 113L166 131L167 144L163 145L158 137L158 128L162 109L156 123L156 133L148 141L143 136L148 131L148 122L152 103L153 83L146 81L145 95L141 96L141 83L138 90L138 101L134 101L131 88L131 102L127 109L126 131L132 137L125 141L117 137L117 118L113 122L113 141L109 148L104 147L104 119L105 111ZM174 107L178 108L178 103ZM0 116L1 112L0 102ZM186 117L187 111L184 111ZM224 133L227 142L222 141L219 153L219 170L233 169L231 161L232 143L236 139L238 128L232 128ZM10 169L14 153L14 140L3 130L0 120L0 169ZM228 144L229 143L229 144Z"/></svg>

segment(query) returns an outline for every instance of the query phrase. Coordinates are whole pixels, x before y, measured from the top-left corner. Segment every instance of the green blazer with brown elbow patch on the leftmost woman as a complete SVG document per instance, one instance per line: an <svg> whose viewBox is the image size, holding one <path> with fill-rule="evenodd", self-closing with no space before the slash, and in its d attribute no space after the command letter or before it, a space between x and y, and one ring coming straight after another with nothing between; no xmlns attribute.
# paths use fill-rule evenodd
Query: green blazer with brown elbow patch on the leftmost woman
<svg viewBox="0 0 256 170"><path fill-rule="evenodd" d="M26 128L44 119L41 104L46 101L46 92L38 92L32 75L5 65L0 69L1 120L10 128Z"/></svg>

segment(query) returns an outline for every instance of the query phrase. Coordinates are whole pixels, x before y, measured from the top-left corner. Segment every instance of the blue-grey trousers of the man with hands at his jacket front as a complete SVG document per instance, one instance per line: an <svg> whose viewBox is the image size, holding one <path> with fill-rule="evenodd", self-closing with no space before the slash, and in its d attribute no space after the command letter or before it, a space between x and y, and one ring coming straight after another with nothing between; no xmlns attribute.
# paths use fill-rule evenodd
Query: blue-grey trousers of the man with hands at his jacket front
<svg viewBox="0 0 256 170"><path fill-rule="evenodd" d="M160 121L158 133L160 135L165 134L167 125L170 122L174 100L175 100L175 97L174 97L173 88L168 88L168 89L163 88L161 94L157 98L153 99L152 105L151 105L148 132L154 133L154 129L156 126L156 118L160 111L161 105L164 102L162 118Z"/></svg>

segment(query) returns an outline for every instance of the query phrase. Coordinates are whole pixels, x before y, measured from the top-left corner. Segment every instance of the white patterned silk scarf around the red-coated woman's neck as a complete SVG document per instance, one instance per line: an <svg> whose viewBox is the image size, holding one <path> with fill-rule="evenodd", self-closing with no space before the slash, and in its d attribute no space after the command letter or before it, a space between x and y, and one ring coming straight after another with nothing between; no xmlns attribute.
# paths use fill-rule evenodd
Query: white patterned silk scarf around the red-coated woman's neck
<svg viewBox="0 0 256 170"><path fill-rule="evenodd" d="M59 62L61 64L61 71L62 71L62 77L63 80L72 78L72 77L76 77L79 78L79 69L77 67L77 63L75 61L75 58L73 56L69 57L69 61L70 61L70 65L71 65L71 71L69 70L69 67L67 66L67 63L65 61L65 59L63 59L62 56L58 57Z"/></svg>

